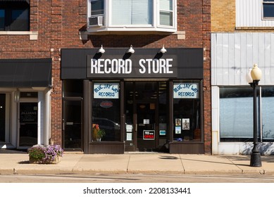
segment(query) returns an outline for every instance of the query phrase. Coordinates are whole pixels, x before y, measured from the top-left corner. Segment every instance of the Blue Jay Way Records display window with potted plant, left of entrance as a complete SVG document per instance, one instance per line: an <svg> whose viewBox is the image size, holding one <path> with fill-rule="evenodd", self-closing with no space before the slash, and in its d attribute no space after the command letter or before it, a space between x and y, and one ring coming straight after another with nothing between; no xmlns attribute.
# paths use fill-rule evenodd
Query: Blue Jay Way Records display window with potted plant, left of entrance
<svg viewBox="0 0 274 197"><path fill-rule="evenodd" d="M120 141L119 83L95 82L92 93L92 141L98 140L98 127L104 130L101 141Z"/></svg>

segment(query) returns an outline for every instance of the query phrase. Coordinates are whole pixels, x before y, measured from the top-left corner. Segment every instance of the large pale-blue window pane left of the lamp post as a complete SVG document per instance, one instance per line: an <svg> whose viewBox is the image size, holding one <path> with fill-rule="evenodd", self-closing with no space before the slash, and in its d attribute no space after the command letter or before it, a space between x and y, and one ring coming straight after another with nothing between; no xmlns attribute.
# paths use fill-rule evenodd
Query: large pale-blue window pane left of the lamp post
<svg viewBox="0 0 274 197"><path fill-rule="evenodd" d="M220 141L252 140L252 103L250 87L220 88Z"/></svg>

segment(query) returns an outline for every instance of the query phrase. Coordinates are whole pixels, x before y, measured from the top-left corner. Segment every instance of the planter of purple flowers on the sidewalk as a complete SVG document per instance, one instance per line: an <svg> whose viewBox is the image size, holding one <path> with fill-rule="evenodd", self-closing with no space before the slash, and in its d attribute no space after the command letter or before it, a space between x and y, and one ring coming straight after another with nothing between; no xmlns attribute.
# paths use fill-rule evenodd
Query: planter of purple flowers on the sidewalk
<svg viewBox="0 0 274 197"><path fill-rule="evenodd" d="M63 149L60 145L35 145L27 149L30 163L58 163L63 157Z"/></svg>

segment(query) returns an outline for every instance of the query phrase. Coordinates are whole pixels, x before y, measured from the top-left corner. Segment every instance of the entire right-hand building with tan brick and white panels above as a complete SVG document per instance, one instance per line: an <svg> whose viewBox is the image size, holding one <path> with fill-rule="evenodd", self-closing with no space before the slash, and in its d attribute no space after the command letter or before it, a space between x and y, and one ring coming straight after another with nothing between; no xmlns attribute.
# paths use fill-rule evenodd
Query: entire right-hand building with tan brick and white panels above
<svg viewBox="0 0 274 197"><path fill-rule="evenodd" d="M212 153L250 154L253 148L253 91L246 80L256 63L258 141L273 154L273 1L211 1Z"/></svg>

